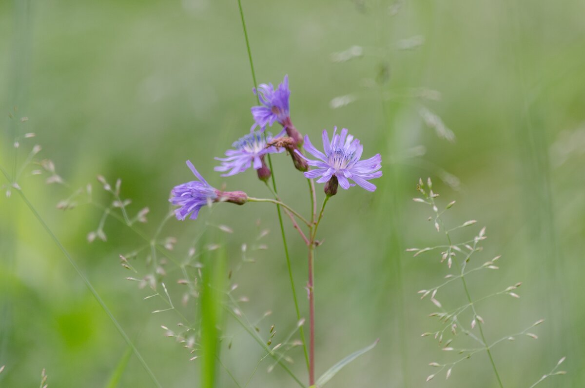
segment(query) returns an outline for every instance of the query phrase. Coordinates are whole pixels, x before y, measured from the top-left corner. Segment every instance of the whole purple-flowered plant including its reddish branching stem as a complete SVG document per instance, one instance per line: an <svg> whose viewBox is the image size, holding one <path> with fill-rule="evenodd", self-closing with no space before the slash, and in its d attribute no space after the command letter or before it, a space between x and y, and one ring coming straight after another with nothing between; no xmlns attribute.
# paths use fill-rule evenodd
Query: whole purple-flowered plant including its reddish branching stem
<svg viewBox="0 0 585 388"><path fill-rule="evenodd" d="M286 150L290 154L295 168L298 171L302 171L304 176L309 180L312 202L310 217L304 217L300 212L292 209L286 203L281 202L279 196L276 194L274 176L273 188L271 189L274 199L253 198L247 196L245 192L223 192L213 188L189 161L187 161L187 165L198 180L176 186L171 191L170 202L178 206L175 213L177 219L180 220L184 220L189 215L191 215L191 219L196 219L201 207L211 205L214 202L232 202L238 205L243 205L247 202L275 203L278 205L278 217L281 232L283 233L283 240L284 226L281 210L290 218L292 226L297 230L301 239L308 247L308 345L305 343L304 335L302 334L302 323L298 327L301 333L301 342L305 349L305 356L307 357L308 385L315 387L314 250L321 244L321 241L316 240L317 229L323 217L325 205L333 195L336 195L338 186L341 186L345 190L356 185L370 192L376 190L376 186L369 181L382 176L382 172L380 171L382 159L380 154L376 154L369 159L360 160L362 158L363 146L358 139L348 133L347 128L343 128L339 133L337 128L335 128L331 140L327 131L324 130L322 134L323 151L315 148L308 136L302 137L297 128L292 124L290 117L290 89L288 89L287 76L284 77L283 82L278 85L277 89L274 89L272 84L261 84L258 89L253 89L253 92L261 104L252 107L254 124L248 134L243 135L232 144L232 148L225 152L224 157L215 158L220 162L219 166L215 167L215 171L222 172L222 176L233 176L253 168L256 170L258 178L263 180L268 186L268 179L272 174L270 171L272 167L270 154L281 154ZM266 127L271 127L274 122L278 122L283 127L283 131L273 138L271 134L266 132ZM259 129L256 130L256 128ZM316 159L307 158L303 154L304 150ZM264 162L264 158L269 162L268 165ZM313 169L310 169L311 167ZM320 211L316 207L314 179L316 179L317 183L325 183L325 199ZM284 243L286 249L285 240ZM290 261L288 261L288 253L286 257L292 283L292 272ZM294 291L294 285L292 285L292 290ZM297 297L295 295L295 304L296 300ZM304 319L301 319L298 305L297 318L299 322L304 322ZM270 341L267 343L270 345ZM354 354L366 352L375 345L376 343ZM317 383L319 382L321 382L321 379L317 380Z"/></svg>

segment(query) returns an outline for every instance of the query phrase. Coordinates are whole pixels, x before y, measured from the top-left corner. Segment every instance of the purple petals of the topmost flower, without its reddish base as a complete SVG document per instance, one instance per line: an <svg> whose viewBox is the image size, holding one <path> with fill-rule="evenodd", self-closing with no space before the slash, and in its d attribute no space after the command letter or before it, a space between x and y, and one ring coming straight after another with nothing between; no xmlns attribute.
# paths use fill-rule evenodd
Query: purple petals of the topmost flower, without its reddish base
<svg viewBox="0 0 585 388"><path fill-rule="evenodd" d="M260 84L258 90L252 89L254 94L257 94L262 105L252 107L252 116L256 123L252 125L252 130L257 126L264 130L266 125L270 127L274 121L278 121L281 125L286 126L290 121L288 111L288 97L291 94L288 89L288 75L284 76L284 80L278 85L278 89L274 90L274 86L269 84Z"/></svg>

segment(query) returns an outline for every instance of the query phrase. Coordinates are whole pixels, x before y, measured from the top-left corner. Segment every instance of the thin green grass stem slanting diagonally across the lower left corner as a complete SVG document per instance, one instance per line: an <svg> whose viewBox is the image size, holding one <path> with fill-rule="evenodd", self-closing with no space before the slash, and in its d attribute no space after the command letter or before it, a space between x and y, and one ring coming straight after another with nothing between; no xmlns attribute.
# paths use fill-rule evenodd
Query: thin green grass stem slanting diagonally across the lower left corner
<svg viewBox="0 0 585 388"><path fill-rule="evenodd" d="M2 171L2 173L4 174L6 180L10 181L9 176L8 176L8 173L6 173L6 171L4 170L4 168L0 167L0 171ZM69 261L69 263L71 264L71 266L73 266L73 268L75 269L75 271L77 272L77 274L79 275L79 277L81 278L81 280L83 280L83 282L85 283L85 286L88 288L88 290L90 290L91 294L94 296L95 300L97 300L97 302L101 306L101 308L105 311L106 315L108 315L109 319L112 321L112 323L114 324L114 326L116 326L116 329L118 329L118 332L120 333L120 335L122 336L122 338L124 339L124 341L126 343L128 343L128 346L130 346L130 348L132 348L132 352L135 354L135 356L139 360L140 364L142 364L142 367L144 367L144 370L146 370L146 373L148 373L148 375L150 376L150 379L153 381L153 383L157 387L161 388L162 386L159 383L159 381L156 379L156 376L154 376L154 373L152 372L152 370L150 369L150 367L147 365L147 363L144 360L144 358L142 358L142 355L140 354L140 352L138 351L138 349L136 348L136 346L134 346L134 344L132 343L132 340L130 340L129 336L126 334L126 332L124 331L124 329L122 329L122 326L119 324L118 320L113 316L112 312L106 306L106 304L103 301L103 299L99 296L99 294L95 290L94 286L90 283L90 280L87 277L85 277L85 275L81 271L81 268L77 265L77 263L75 263L75 261L73 260L73 257L71 257L70 253L61 244L61 241L59 241L59 239L57 239L57 236L55 236L55 234L51 231L51 229L49 228L49 226L44 222L43 218L36 211L36 209L32 205L32 203L29 202L29 200L26 198L26 196L22 192L22 190L16 190L16 191L18 191L18 193L20 195L20 198L22 198L22 200L26 203L26 206L29 208L30 212L33 213L33 215L36 217L36 219L39 221L39 223L43 226L44 230L49 234L49 236L51 237L51 239L53 239L53 241L55 242L55 244L57 244L57 247L59 247L59 249L61 250L61 252L63 252L63 254L65 255L65 257L67 257L67 260Z"/></svg>

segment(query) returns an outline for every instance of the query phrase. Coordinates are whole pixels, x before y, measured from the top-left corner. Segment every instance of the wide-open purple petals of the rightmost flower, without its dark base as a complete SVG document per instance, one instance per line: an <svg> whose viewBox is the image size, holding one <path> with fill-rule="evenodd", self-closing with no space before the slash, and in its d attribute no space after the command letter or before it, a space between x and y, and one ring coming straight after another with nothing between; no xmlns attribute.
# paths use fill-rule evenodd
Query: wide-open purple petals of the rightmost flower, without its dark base
<svg viewBox="0 0 585 388"><path fill-rule="evenodd" d="M368 191L376 190L376 186L368 181L382 176L382 172L378 171L382 167L380 154L360 161L363 151L360 141L354 139L352 135L347 135L346 128L343 128L340 134L336 134L336 132L337 127L333 130L333 139L329 141L327 131L323 130L323 149L325 153L316 149L311 144L309 137L305 135L305 149L309 154L319 159L307 159L300 152L295 151L307 160L310 166L316 167L316 169L305 172L305 176L307 178L320 177L317 183L329 182L332 177L335 177L339 181L339 186L346 190L351 186L355 186L355 184L349 183L347 180L351 179Z"/></svg>

